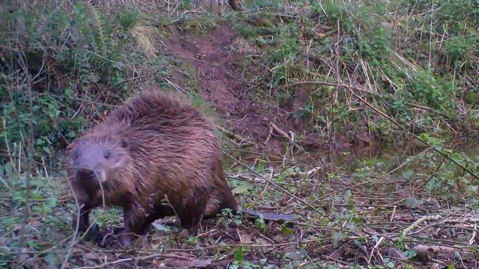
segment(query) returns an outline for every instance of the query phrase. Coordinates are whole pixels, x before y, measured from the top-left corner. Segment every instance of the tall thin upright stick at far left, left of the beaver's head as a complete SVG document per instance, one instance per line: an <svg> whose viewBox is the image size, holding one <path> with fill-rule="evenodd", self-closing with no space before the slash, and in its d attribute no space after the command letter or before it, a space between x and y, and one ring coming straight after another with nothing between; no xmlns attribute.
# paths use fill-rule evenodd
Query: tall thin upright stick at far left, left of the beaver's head
<svg viewBox="0 0 479 269"><path fill-rule="evenodd" d="M28 222L28 211L29 211L29 204L30 204L30 180L31 180L31 169L33 167L33 97L31 94L31 74L28 72L27 63L25 62L25 54L20 55L19 60L21 62L21 66L25 74L27 75L27 97L28 101L28 110L30 113L30 120L28 121L28 130L30 135L28 137L28 147L27 147L27 154L28 154L28 162L27 162L27 194L25 197L25 208L24 208L24 217L23 217L23 225L20 227L20 242L18 244L18 257L17 257L17 267L20 268L20 256L22 255L22 248L25 243L25 225Z"/></svg>

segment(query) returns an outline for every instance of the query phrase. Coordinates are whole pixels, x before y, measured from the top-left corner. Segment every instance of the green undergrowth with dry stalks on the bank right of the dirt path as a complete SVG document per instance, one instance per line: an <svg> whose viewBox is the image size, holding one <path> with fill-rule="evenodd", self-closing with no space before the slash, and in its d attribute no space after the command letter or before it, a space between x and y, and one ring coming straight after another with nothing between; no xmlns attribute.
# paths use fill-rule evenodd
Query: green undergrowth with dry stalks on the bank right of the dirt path
<svg viewBox="0 0 479 269"><path fill-rule="evenodd" d="M235 18L239 37L255 48L244 62L261 62L266 73L252 73L263 93L287 107L298 92L309 98L294 107L292 117L310 126L333 129L354 124L379 138L394 141L399 130L381 124L378 115L356 98L367 100L415 133L474 135L478 125L478 3L475 1L346 1L314 2L312 6L257 1ZM461 14L453 16L452 14ZM238 48L241 49L241 48ZM331 86L346 84L331 102ZM304 82L297 86L289 84ZM265 95L260 95L264 97ZM316 108L311 109L312 104ZM331 105L333 107L331 107ZM359 113L359 115L358 115ZM372 123L372 124L368 124ZM353 124L353 125L354 125Z"/></svg>

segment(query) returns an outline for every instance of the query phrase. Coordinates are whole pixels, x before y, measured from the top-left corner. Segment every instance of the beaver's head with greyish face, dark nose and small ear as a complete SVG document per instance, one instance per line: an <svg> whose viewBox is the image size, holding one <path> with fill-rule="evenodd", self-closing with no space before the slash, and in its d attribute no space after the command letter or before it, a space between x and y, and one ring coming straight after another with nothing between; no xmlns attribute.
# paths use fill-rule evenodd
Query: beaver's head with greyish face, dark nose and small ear
<svg viewBox="0 0 479 269"><path fill-rule="evenodd" d="M85 137L70 147L69 177L91 187L108 187L131 163L127 138Z"/></svg>

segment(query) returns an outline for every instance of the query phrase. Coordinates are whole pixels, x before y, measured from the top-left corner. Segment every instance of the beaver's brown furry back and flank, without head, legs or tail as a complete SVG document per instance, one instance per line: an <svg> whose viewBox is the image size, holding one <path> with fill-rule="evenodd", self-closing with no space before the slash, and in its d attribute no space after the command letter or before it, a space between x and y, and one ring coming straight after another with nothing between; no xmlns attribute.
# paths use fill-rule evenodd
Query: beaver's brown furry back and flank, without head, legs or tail
<svg viewBox="0 0 479 269"><path fill-rule="evenodd" d="M91 131L95 133L128 139L135 168L135 178L129 180L138 196L197 199L208 196L217 181L212 173L221 150L213 123L178 95L147 91L133 97Z"/></svg>

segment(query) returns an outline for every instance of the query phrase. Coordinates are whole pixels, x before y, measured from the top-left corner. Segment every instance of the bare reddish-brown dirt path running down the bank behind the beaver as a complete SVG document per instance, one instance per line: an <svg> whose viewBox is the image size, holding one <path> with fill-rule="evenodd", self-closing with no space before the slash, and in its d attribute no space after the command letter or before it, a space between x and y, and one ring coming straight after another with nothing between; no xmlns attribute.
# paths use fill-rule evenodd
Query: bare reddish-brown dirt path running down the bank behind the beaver
<svg viewBox="0 0 479 269"><path fill-rule="evenodd" d="M264 119L270 113L252 98L251 87L235 68L235 61L241 60L231 52L235 37L227 26L202 35L178 33L166 49L194 68L203 98L229 130L262 144L269 134Z"/></svg>

